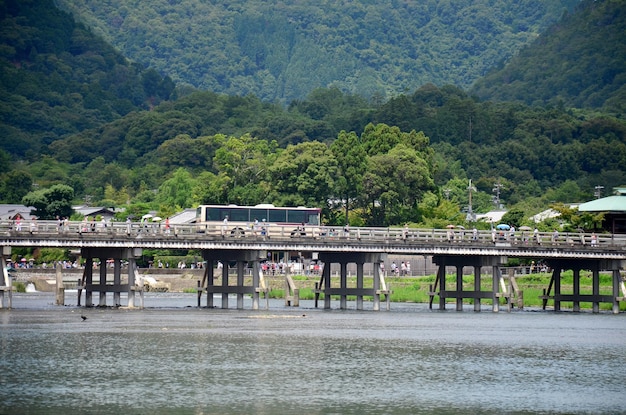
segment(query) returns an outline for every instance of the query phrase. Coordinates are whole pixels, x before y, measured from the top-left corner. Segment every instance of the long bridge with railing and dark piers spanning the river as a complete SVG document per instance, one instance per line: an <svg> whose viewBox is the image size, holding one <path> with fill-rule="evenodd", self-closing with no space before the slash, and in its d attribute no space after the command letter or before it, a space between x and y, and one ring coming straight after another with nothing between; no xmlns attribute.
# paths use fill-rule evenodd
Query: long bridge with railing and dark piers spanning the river
<svg viewBox="0 0 626 415"><path fill-rule="evenodd" d="M546 263L552 269L552 278L542 296L544 307L552 301L559 311L562 302L572 302L574 311L580 310L581 302L592 303L594 312L599 312L600 303L612 305L619 312L619 303L625 301L626 289L620 271L626 265L626 236L600 235L592 241L591 235L532 232L466 232L458 229L403 229L403 228L309 228L294 233L293 226L271 226L267 233L255 234L249 229L232 232L221 225L173 225L170 229L150 224L109 223L107 227L90 227L84 223L70 222L59 226L56 222L39 222L22 230L10 229L0 224L2 266L4 285L0 286L0 306L5 294L11 302L11 282L6 270L7 259L12 248L39 247L80 249L85 260L80 291L85 291L85 305L93 305L93 293L99 294L100 306L106 306L107 293L113 294L113 302L120 305L120 294L128 296L128 306L134 307L136 294L143 305L143 286L136 268L136 258L144 249L193 249L202 253L206 262L204 276L198 287L198 306L203 294L206 304L214 306L214 295L221 294L222 308L228 308L229 294L237 297L237 308L243 308L244 295L252 297L252 308L258 309L261 294L267 298L268 287L263 278L261 264L268 252L290 253L319 260L322 266L320 281L316 287L316 305L323 296L324 308L330 308L331 298L339 297L340 308L347 308L348 296L356 297L356 309L363 309L364 297L373 299L374 310L380 309L381 298L389 306L390 290L386 284L380 264L387 255L405 257L432 257L437 265L435 284L430 290L430 305L438 299L439 309L445 309L448 299L456 300L456 309L461 310L464 299L474 302L474 310L481 309L481 300L491 301L493 311L498 311L500 300L509 307L519 300L514 278L503 276L501 269L508 258L526 258ZM26 229L27 228L27 229ZM98 261L99 260L99 261ZM107 280L107 260L113 260L113 283ZM127 277L122 278L122 261L128 261ZM100 265L95 265L95 264ZM228 266L236 269L235 281L229 279ZM356 286L348 284L348 264L356 266ZM365 265L371 278L365 278ZM244 270L252 268L252 278L245 278ZM331 268L338 269L337 278L331 278ZM463 287L463 269L472 267L474 285ZM491 268L493 275L490 290L481 289L481 273ZM94 282L94 269L99 268L99 278ZM456 278L451 286L446 282L446 271L455 270ZM215 285L215 272L221 273L221 285ZM573 290L563 293L562 272L573 271ZM592 292L581 293L581 271L591 272ZM600 272L611 273L611 284L601 287ZM59 271L60 272L60 271ZM505 283L506 281L506 283ZM234 282L234 284L231 284ZM604 292L604 294L601 294ZM298 304L298 291L289 274L285 277L285 298L290 305Z"/></svg>

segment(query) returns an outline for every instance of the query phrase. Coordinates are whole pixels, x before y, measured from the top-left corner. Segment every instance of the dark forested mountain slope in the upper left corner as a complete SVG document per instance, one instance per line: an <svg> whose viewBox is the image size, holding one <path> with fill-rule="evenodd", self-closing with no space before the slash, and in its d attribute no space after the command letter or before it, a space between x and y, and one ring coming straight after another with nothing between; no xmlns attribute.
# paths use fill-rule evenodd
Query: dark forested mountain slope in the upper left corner
<svg viewBox="0 0 626 415"><path fill-rule="evenodd" d="M173 89L52 0L0 0L0 149L13 157L34 159L59 138L148 109Z"/></svg>

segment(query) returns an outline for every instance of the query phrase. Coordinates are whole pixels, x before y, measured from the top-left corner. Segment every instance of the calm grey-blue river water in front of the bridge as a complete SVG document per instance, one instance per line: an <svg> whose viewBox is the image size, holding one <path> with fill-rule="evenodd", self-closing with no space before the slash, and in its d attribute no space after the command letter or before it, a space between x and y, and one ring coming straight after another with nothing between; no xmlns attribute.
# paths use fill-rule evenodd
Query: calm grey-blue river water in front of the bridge
<svg viewBox="0 0 626 415"><path fill-rule="evenodd" d="M0 310L0 414L626 413L625 314L53 302Z"/></svg>

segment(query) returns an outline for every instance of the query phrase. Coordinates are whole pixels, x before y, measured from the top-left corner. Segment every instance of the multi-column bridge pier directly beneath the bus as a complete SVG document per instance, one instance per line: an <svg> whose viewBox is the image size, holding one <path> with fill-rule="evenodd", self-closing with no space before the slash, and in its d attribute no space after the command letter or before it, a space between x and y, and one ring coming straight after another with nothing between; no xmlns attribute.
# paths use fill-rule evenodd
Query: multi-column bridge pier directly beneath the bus
<svg viewBox="0 0 626 415"><path fill-rule="evenodd" d="M244 295L252 296L252 309L259 309L260 293L264 292L265 297L269 293L268 288L262 281L262 273L260 262L267 258L267 251L245 251L245 250L205 250L202 257L207 263L204 277L200 287L198 287L198 306L200 306L200 296L202 291L207 293L207 307L214 307L213 295L222 295L222 308L228 308L228 295L236 294L237 309L243 309ZM222 263L222 284L215 285L214 265L220 261ZM228 264L235 262L236 269L236 285L229 283ZM245 270L246 265L252 263L252 281L251 285L246 285Z"/></svg>

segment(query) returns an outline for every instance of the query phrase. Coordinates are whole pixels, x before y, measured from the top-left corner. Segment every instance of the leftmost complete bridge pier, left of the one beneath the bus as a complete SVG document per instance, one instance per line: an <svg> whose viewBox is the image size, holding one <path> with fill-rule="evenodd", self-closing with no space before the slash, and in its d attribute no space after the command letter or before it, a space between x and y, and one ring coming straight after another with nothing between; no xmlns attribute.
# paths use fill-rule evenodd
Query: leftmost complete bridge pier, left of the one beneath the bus
<svg viewBox="0 0 626 415"><path fill-rule="evenodd" d="M135 293L140 294L140 307L143 307L143 284L138 281L135 258L141 256L139 248L83 248L81 255L85 258L83 278L78 286L78 305L82 290L85 290L85 306L93 306L93 293L98 293L98 306L107 306L107 293L113 293L113 305L121 306L121 293L127 293L129 308L135 307ZM94 258L100 260L98 283L93 282ZM107 260L113 260L113 284L107 279ZM122 284L121 261L128 261L128 282ZM138 284L139 282L139 284Z"/></svg>

